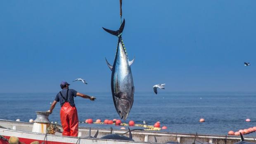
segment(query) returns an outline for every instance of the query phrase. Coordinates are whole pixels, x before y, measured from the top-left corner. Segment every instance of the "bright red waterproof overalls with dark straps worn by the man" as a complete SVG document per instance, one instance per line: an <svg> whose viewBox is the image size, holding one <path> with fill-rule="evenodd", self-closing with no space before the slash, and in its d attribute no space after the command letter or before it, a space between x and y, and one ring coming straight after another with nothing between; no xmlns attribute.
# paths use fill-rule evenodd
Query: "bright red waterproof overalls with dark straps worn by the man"
<svg viewBox="0 0 256 144"><path fill-rule="evenodd" d="M62 96L62 92L59 92ZM76 106L71 106L68 102L69 89L66 91L65 103L60 109L60 120L62 122L63 136L73 136L77 137L78 135L78 115L76 111Z"/></svg>

